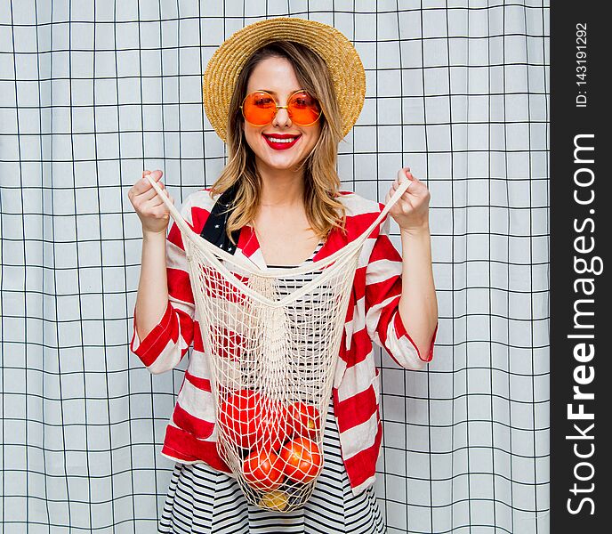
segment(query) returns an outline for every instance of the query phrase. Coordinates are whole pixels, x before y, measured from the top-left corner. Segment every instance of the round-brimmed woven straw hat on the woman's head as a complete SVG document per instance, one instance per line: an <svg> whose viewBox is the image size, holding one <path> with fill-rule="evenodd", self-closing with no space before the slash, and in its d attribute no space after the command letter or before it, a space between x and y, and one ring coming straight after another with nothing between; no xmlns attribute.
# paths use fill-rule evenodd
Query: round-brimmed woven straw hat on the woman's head
<svg viewBox="0 0 612 534"><path fill-rule="evenodd" d="M357 122L366 98L366 71L349 39L317 20L277 17L239 29L208 61L202 84L204 108L223 142L227 141L229 101L240 70L256 50L280 39L304 44L326 62L342 115L342 135Z"/></svg>

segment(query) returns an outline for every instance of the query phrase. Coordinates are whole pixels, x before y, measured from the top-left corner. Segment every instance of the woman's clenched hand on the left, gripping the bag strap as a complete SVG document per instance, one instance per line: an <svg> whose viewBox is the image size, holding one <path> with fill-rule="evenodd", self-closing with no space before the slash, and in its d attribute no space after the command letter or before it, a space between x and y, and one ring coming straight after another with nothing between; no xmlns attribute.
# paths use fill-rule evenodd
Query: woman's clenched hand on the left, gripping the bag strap
<svg viewBox="0 0 612 534"><path fill-rule="evenodd" d="M134 206L134 210L141 220L143 234L145 232L165 233L165 229L170 222L170 211L165 206L164 201L157 195L157 191L150 184L149 179L146 178L146 174L150 174L150 177L157 182L163 173L159 170L152 173L144 171L142 179L134 183L132 189L127 192L127 197L132 202L132 206ZM174 204L174 199L168 194L164 184L159 182L158 185L165 196L170 198Z"/></svg>

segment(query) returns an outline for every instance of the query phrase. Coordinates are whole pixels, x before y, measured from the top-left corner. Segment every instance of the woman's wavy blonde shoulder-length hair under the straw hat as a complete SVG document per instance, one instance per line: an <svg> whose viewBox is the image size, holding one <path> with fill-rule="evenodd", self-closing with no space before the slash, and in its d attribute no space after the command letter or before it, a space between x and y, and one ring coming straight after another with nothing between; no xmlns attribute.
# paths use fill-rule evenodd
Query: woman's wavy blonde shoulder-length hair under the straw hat
<svg viewBox="0 0 612 534"><path fill-rule="evenodd" d="M304 158L304 207L310 227L319 239L327 239L334 228L345 232L346 208L336 199L340 177L336 172L338 143L342 141L342 117L334 93L334 84L325 61L307 46L294 41L275 41L257 50L238 75L229 103L228 163L213 183L210 196L222 194L236 186L234 202L229 206L226 232L234 245L231 232L254 221L262 195L262 176L255 166L254 152L246 142L244 117L240 104L246 96L249 77L255 66L270 57L285 58L294 67L300 87L314 96L323 110L319 118L321 134Z"/></svg>

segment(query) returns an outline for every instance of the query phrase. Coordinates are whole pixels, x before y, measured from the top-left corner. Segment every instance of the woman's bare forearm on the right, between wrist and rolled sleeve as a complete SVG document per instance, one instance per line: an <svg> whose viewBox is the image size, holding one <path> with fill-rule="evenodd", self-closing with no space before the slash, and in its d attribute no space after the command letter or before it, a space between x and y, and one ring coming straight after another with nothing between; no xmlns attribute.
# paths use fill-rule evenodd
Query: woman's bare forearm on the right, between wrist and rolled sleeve
<svg viewBox="0 0 612 534"><path fill-rule="evenodd" d="M422 357L430 349L438 323L438 299L431 264L429 226L419 231L400 231L402 245L402 294L399 315Z"/></svg>

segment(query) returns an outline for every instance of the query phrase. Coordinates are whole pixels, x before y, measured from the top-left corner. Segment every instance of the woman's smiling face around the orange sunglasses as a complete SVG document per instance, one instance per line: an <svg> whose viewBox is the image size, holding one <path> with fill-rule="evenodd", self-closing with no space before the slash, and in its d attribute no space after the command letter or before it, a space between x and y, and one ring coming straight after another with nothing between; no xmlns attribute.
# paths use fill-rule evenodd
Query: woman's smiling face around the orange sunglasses
<svg viewBox="0 0 612 534"><path fill-rule="evenodd" d="M277 101L279 106L286 106L287 99L298 89L298 83L292 64L285 58L271 57L258 63L246 87L246 94L254 91L266 91ZM321 134L321 119L310 126L292 123L286 109L278 109L276 117L268 125L254 126L243 121L246 142L255 154L257 168L294 169L304 158L307 158ZM272 146L267 136L274 134L290 134L298 136L293 146L279 150ZM282 145L281 145L282 146Z"/></svg>

